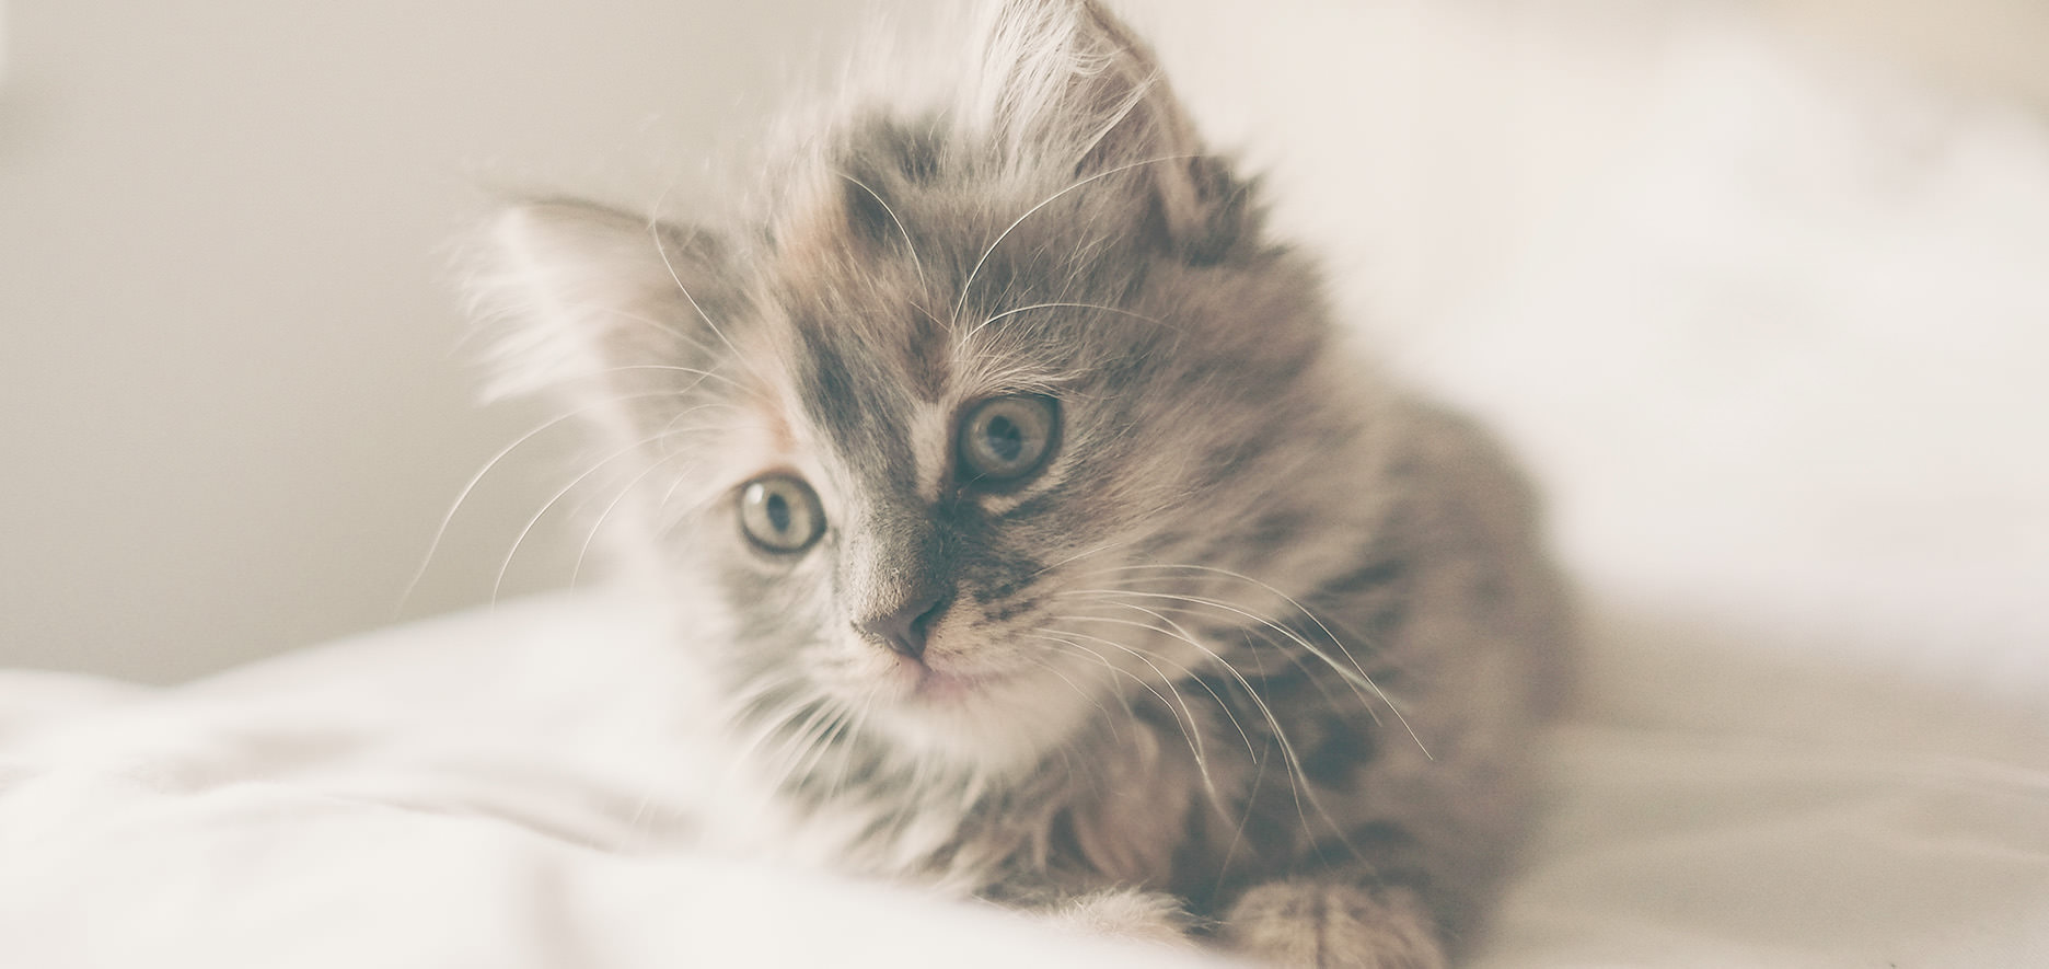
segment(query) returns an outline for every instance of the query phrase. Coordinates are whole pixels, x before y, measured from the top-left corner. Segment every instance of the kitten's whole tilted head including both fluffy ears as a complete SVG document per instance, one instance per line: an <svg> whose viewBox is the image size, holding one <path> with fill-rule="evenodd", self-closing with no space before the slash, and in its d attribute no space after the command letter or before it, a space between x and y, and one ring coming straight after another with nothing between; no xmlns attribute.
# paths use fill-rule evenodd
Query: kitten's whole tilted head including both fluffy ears
<svg viewBox="0 0 2049 969"><path fill-rule="evenodd" d="M678 594L719 590L754 715L1010 768L1356 563L1375 397L1123 25L988 37L746 231L508 211L486 295L506 381L609 428Z"/></svg>

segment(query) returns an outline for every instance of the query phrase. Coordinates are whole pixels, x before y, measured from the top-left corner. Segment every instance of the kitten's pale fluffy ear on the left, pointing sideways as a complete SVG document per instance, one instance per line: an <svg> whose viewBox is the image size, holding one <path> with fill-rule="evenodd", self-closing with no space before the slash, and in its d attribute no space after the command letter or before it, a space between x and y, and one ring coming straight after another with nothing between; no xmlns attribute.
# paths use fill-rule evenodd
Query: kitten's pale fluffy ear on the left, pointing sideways
<svg viewBox="0 0 2049 969"><path fill-rule="evenodd" d="M469 291L494 330L494 397L660 387L674 367L707 369L709 322L731 311L717 240L596 203L508 207L482 248Z"/></svg>

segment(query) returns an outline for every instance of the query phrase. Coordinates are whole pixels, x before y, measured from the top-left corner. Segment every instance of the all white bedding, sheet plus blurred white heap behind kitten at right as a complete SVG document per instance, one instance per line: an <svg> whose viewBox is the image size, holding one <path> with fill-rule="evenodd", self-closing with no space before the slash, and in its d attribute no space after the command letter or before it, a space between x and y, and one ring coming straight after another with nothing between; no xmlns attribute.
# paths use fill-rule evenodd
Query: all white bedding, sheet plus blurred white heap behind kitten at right
<svg viewBox="0 0 2049 969"><path fill-rule="evenodd" d="M1584 709L1486 967L2049 965L2049 133L1742 37L1402 361L1551 483ZM0 672L0 965L1186 965L688 848L607 592Z"/></svg>

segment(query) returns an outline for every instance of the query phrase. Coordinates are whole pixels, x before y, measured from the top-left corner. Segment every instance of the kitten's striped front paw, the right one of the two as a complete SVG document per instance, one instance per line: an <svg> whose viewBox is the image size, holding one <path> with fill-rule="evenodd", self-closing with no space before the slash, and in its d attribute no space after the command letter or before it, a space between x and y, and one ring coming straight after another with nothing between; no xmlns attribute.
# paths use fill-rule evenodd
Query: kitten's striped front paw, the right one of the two
<svg viewBox="0 0 2049 969"><path fill-rule="evenodd" d="M1406 889L1320 881L1258 885L1231 905L1223 938L1281 967L1445 969L1436 924Z"/></svg>

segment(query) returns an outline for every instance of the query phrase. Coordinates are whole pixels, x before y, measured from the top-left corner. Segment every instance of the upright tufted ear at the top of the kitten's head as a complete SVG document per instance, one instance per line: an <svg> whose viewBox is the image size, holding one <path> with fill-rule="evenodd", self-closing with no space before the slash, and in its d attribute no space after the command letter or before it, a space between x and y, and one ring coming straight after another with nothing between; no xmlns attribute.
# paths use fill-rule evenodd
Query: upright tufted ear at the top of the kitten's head
<svg viewBox="0 0 2049 969"><path fill-rule="evenodd" d="M1217 262L1250 234L1246 186L1205 154L1152 49L1096 0L1008 0L977 92L1012 158L1072 160L1078 178L1131 172L1170 250Z"/></svg>

